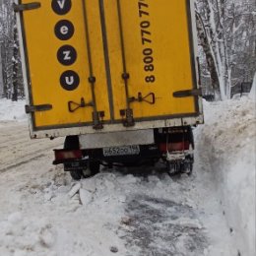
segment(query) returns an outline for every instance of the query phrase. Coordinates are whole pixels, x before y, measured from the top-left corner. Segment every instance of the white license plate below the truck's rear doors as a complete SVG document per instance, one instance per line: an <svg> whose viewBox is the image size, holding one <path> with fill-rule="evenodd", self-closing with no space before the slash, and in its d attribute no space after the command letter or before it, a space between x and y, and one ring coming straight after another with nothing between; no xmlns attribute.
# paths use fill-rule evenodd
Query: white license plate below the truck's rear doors
<svg viewBox="0 0 256 256"><path fill-rule="evenodd" d="M110 147L103 148L104 157L112 156L132 156L140 154L140 146L123 146L123 147Z"/></svg>

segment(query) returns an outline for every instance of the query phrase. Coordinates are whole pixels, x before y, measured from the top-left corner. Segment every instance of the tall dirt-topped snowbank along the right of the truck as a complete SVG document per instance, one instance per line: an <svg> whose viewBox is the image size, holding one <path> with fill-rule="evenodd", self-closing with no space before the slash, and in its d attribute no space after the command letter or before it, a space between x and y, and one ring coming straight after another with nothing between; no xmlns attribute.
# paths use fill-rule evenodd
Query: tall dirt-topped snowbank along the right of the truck
<svg viewBox="0 0 256 256"><path fill-rule="evenodd" d="M208 159L238 255L255 254L255 101L205 102L198 153ZM211 168L210 168L211 169Z"/></svg>

